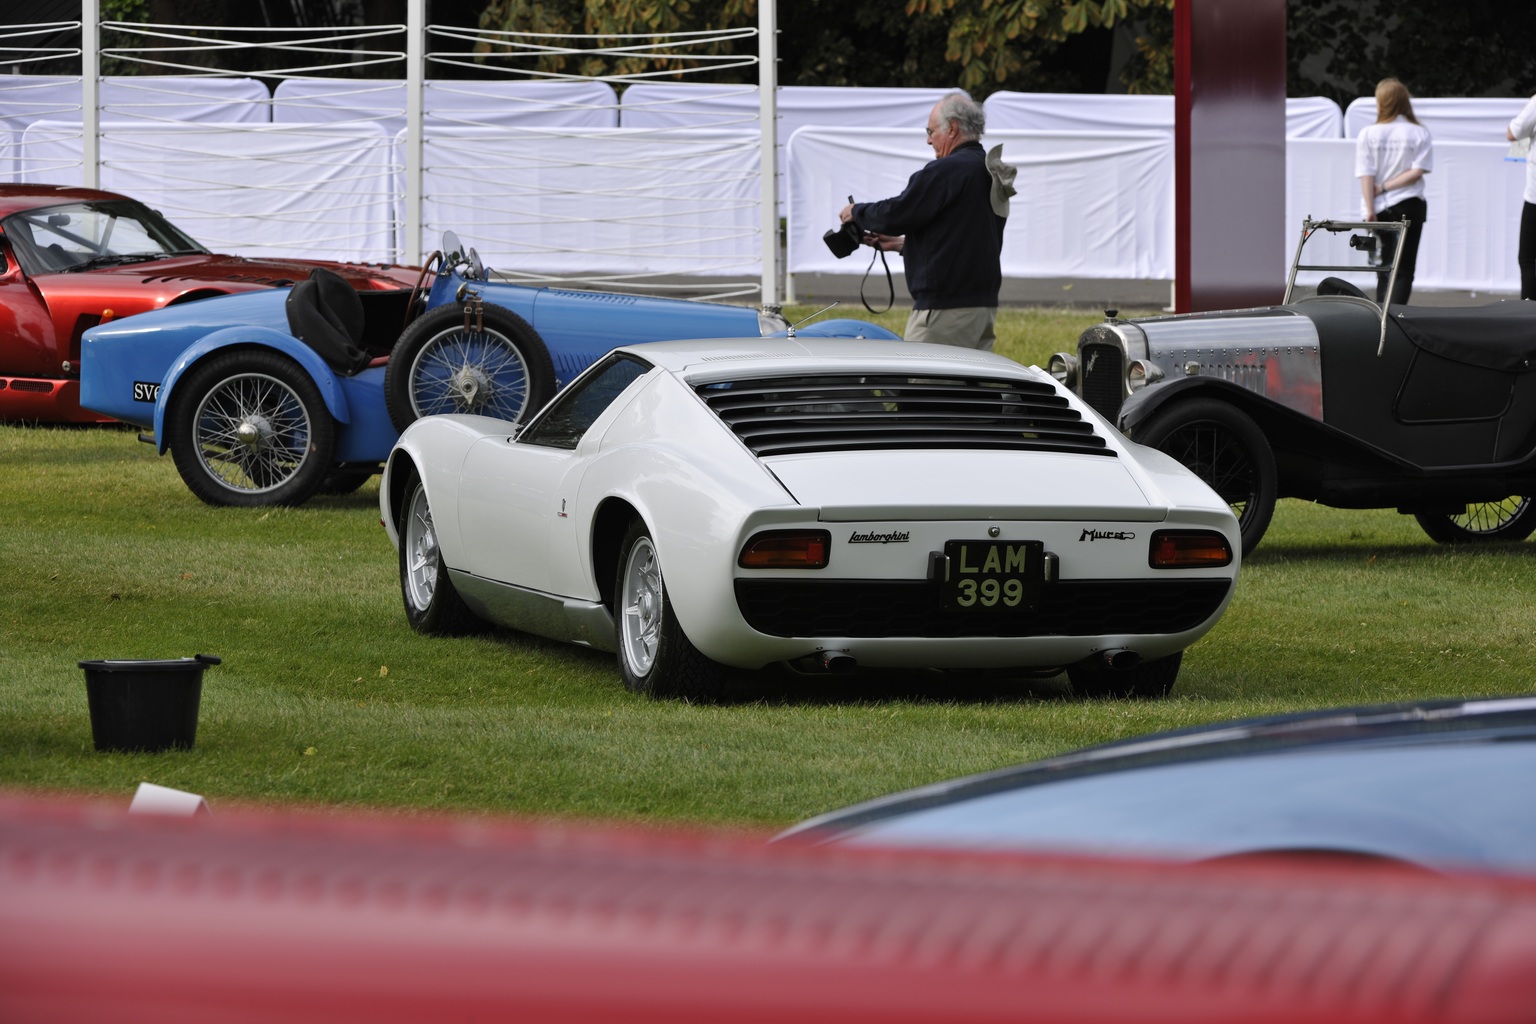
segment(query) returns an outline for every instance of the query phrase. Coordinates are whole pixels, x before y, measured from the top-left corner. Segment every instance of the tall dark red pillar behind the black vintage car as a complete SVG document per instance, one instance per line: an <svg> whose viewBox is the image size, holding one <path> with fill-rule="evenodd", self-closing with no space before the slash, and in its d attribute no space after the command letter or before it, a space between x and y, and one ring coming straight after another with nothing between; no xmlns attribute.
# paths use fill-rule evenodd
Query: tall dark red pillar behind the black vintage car
<svg viewBox="0 0 1536 1024"><path fill-rule="evenodd" d="M1286 290L1286 0L1174 6L1180 312Z"/></svg>

